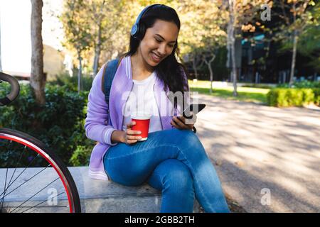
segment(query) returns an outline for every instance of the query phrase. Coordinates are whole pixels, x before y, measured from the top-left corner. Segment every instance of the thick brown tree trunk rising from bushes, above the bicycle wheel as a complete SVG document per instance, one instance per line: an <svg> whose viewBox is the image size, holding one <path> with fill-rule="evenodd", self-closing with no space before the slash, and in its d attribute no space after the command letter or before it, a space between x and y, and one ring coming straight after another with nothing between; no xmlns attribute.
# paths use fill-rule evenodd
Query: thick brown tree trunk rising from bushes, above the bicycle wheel
<svg viewBox="0 0 320 227"><path fill-rule="evenodd" d="M43 73L43 43L42 43L42 0L31 0L31 78L30 85L36 98L36 103L46 103L46 77Z"/></svg>

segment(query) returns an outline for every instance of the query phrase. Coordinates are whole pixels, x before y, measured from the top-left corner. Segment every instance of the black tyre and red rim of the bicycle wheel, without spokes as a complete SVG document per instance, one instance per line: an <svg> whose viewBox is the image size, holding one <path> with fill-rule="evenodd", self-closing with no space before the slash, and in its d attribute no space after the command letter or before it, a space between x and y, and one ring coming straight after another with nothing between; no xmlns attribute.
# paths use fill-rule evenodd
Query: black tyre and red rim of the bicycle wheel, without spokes
<svg viewBox="0 0 320 227"><path fill-rule="evenodd" d="M46 145L40 140L33 138L31 135L9 128L0 128L0 139L1 138L4 140L14 140L16 143L25 145L49 162L63 183L63 187L65 188L68 198L70 213L81 212L78 189L75 185L73 177L68 168L52 150L46 147Z"/></svg>

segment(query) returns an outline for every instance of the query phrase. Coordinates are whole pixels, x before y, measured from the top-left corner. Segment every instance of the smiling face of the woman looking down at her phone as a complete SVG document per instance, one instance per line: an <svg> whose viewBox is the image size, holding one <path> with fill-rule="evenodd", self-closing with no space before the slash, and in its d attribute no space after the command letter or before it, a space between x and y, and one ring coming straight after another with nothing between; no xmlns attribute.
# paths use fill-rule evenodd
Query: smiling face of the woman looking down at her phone
<svg viewBox="0 0 320 227"><path fill-rule="evenodd" d="M156 20L153 27L146 29L146 34L139 45L139 52L144 61L151 67L155 67L171 55L178 32L175 23Z"/></svg>

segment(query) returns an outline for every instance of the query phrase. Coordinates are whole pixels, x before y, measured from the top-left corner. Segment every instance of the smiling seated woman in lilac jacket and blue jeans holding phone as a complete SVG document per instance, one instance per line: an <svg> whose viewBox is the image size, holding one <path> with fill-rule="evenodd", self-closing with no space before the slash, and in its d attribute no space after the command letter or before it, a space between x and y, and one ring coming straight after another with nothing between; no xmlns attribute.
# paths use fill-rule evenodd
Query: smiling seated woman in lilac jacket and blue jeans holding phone
<svg viewBox="0 0 320 227"><path fill-rule="evenodd" d="M132 27L129 52L118 67L116 60L98 72L85 120L87 137L100 142L92 150L90 175L126 186L148 182L162 192L161 212L192 213L195 198L206 212L229 212L218 175L191 131L196 121L186 123L178 116L182 113L177 106L181 105L169 100L170 93L182 94L188 100L186 71L176 59L179 31L180 20L174 9L160 4L147 6ZM105 96L102 77L104 71L110 72L108 69L115 74L110 95ZM140 129L144 133L135 129L136 121L122 110L128 105L139 109L144 104L151 108L149 131L141 141L140 135L148 127Z"/></svg>

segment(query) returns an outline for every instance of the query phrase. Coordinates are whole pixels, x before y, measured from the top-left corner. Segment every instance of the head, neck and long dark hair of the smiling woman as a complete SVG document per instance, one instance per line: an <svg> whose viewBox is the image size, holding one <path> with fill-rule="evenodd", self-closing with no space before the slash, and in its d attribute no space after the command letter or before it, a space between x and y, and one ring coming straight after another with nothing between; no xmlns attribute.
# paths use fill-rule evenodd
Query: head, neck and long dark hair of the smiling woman
<svg viewBox="0 0 320 227"><path fill-rule="evenodd" d="M154 5L138 18L139 30L131 36L129 51L124 54L132 57L134 77L155 70L171 92L188 91L185 67L176 59L181 26L176 11Z"/></svg>

